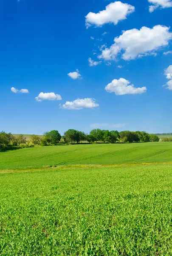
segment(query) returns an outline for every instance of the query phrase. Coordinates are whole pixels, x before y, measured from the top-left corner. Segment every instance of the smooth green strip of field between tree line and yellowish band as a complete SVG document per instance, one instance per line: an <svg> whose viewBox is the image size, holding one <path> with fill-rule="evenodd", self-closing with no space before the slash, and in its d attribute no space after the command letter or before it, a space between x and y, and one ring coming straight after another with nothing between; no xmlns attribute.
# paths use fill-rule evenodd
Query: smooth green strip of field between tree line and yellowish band
<svg viewBox="0 0 172 256"><path fill-rule="evenodd" d="M0 169L172 161L172 143L60 145L0 152Z"/></svg>

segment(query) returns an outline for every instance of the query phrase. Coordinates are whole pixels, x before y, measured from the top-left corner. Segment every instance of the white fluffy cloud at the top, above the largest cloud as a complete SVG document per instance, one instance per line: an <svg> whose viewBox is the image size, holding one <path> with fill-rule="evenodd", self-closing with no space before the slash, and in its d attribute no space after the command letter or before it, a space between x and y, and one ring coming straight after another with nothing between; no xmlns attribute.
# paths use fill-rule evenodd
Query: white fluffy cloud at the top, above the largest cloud
<svg viewBox="0 0 172 256"><path fill-rule="evenodd" d="M127 15L134 12L135 7L120 1L110 3L106 9L98 13L89 12L85 16L85 25L87 28L91 25L102 26L106 23L118 24L120 20L125 20Z"/></svg>

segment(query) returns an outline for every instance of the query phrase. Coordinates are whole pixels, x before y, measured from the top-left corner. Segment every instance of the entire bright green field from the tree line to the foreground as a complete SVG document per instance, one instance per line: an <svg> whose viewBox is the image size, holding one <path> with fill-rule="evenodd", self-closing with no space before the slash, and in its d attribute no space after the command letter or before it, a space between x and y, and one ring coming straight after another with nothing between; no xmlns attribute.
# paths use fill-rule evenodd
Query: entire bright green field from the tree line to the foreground
<svg viewBox="0 0 172 256"><path fill-rule="evenodd" d="M0 152L0 256L171 256L171 241L172 143Z"/></svg>

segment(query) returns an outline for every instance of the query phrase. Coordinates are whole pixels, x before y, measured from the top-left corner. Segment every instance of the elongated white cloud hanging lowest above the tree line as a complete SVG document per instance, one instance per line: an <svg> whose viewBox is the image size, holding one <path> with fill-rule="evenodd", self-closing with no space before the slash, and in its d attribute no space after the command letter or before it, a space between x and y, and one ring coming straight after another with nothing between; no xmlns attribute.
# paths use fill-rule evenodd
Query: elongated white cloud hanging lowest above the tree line
<svg viewBox="0 0 172 256"><path fill-rule="evenodd" d="M95 99L85 98L85 99L76 99L73 102L66 102L61 108L71 109L71 110L80 110L83 108L96 108L99 107L99 104L96 103Z"/></svg>

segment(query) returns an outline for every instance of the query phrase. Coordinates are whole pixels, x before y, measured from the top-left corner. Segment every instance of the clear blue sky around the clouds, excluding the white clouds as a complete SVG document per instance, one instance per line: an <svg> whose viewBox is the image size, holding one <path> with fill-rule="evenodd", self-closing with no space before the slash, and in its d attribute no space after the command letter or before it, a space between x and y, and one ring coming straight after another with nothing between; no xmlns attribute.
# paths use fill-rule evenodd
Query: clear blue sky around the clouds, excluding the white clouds
<svg viewBox="0 0 172 256"><path fill-rule="evenodd" d="M103 43L110 47L122 30L172 26L172 8L149 13L147 0L122 2L135 6L126 20L116 26L86 29L85 16L103 10L110 1L0 1L0 130L42 134L56 129L63 134L69 128L89 132L93 123L109 123L125 124L119 130L172 132L172 91L162 87L167 82L164 69L172 65L172 54L163 52L172 50L171 43L157 56L119 59L109 66L88 65L89 57L96 60L93 49ZM103 37L104 31L108 34ZM81 80L67 76L76 69ZM107 93L104 87L120 77L135 87L146 86L147 93ZM11 87L27 88L29 94L12 93ZM58 93L62 101L36 102L40 92ZM59 103L78 98L94 98L99 107L79 111L59 108Z"/></svg>

